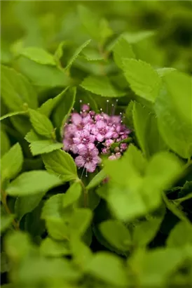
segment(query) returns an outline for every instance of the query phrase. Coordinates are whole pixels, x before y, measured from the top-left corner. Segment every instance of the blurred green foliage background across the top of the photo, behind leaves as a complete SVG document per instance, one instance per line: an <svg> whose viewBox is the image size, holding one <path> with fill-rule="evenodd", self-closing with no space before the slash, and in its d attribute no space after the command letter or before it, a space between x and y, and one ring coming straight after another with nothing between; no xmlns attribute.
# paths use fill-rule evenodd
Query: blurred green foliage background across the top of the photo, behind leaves
<svg viewBox="0 0 192 288"><path fill-rule="evenodd" d="M130 39L136 32L153 31L149 37L137 35L142 60L192 72L190 0L1 1L1 61L12 65L25 46L54 53L61 41L81 45L90 37L81 25L79 4L107 18L114 39L124 32Z"/></svg>

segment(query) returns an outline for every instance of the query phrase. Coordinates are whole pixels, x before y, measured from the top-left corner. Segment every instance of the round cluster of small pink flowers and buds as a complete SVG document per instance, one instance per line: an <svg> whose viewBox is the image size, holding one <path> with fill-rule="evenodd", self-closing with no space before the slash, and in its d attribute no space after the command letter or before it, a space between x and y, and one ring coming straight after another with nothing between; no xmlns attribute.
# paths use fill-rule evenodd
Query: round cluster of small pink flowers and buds
<svg viewBox="0 0 192 288"><path fill-rule="evenodd" d="M71 113L69 123L64 125L64 150L73 153L78 167L93 172L102 162L100 153L109 155L109 159L121 157L128 147L122 141L128 138L129 133L120 115L96 113L84 104L81 112ZM113 143L116 143L116 147L111 153Z"/></svg>

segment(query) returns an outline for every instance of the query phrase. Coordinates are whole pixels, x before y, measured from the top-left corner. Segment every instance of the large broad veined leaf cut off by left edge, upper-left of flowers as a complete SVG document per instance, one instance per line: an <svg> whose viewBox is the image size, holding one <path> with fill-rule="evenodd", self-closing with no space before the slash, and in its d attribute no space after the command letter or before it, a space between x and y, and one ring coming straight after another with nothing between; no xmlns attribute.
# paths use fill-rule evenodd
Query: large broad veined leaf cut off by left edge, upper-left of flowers
<svg viewBox="0 0 192 288"><path fill-rule="evenodd" d="M1 65L1 96L10 111L37 107L37 96L32 85L13 68Z"/></svg>

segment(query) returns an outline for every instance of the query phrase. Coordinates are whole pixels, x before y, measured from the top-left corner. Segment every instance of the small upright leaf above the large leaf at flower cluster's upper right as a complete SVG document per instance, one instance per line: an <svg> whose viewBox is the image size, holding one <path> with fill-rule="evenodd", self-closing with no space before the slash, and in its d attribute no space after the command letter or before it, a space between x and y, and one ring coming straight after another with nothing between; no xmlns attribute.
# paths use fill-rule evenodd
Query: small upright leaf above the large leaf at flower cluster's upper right
<svg viewBox="0 0 192 288"><path fill-rule="evenodd" d="M132 51L132 46L129 42L120 37L113 48L114 51L114 61L119 68L123 69L123 58L135 58L135 53Z"/></svg>

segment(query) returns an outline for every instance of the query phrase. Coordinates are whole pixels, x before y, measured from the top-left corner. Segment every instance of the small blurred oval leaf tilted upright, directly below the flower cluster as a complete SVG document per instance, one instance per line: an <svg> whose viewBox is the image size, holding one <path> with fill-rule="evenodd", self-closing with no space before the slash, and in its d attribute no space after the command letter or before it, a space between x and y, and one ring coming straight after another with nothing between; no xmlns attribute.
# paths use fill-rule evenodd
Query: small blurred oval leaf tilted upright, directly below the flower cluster
<svg viewBox="0 0 192 288"><path fill-rule="evenodd" d="M73 237L82 236L90 225L92 211L88 208L78 208L71 215L69 230Z"/></svg>

